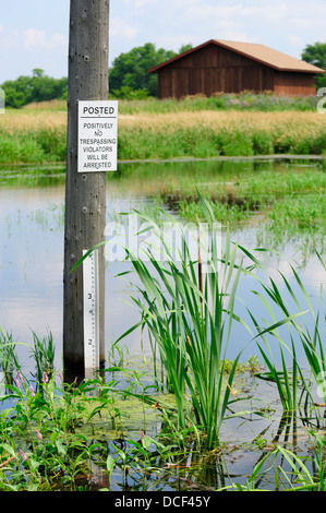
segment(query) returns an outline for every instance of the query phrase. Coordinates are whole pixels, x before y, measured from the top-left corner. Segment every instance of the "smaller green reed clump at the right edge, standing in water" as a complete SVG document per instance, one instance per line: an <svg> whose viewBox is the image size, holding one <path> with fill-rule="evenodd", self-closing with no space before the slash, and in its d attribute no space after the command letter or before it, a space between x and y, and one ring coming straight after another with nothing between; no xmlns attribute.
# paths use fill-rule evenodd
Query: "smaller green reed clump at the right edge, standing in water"
<svg viewBox="0 0 326 513"><path fill-rule="evenodd" d="M323 269L326 270L325 263L318 252L316 252L316 255ZM290 265L290 278L287 278L282 272L278 271L280 285L277 285L276 281L270 276L268 277L269 284L262 283L266 296L253 291L253 294L264 302L266 310L270 314L274 327L277 326L274 308L276 308L285 319L288 319L288 335L280 334L278 330L274 329L269 331L269 334L273 335L271 339L267 339L264 332L266 325L269 325L268 321L265 320L264 327L262 327L258 320L251 311L250 317L258 332L258 337L261 337L264 343L257 343L257 346L268 369L267 372L262 372L257 375L275 382L283 410L295 414L298 407L303 402L303 397L305 398L305 406L314 405L315 399L312 391L313 380L318 386L318 395L324 403L326 403L326 360L321 332L321 323L323 321L325 322L325 310L323 310L323 286L321 286L319 307L316 311L298 272L292 265ZM291 285L291 279L293 281L293 285ZM287 291L287 296L285 293L281 293L282 286ZM302 301L304 301L304 303ZM297 313L293 313L293 308ZM274 361L277 348L281 360L280 370ZM309 372L309 377L306 377L306 372L304 371L304 363L299 366L298 362L297 354L300 348L303 348L306 358L305 368ZM290 367L286 355L290 356ZM299 384L301 387L300 394Z"/></svg>

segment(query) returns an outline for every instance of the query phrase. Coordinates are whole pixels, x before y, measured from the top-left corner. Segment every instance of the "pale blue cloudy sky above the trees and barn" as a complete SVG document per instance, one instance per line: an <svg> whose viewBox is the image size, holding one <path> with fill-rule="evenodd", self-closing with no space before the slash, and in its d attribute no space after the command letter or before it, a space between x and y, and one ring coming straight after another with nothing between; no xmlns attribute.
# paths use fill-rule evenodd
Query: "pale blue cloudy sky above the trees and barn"
<svg viewBox="0 0 326 513"><path fill-rule="evenodd" d="M0 83L68 75L69 0L0 0ZM109 64L145 43L178 51L209 39L259 43L301 58L326 41L325 0L110 0Z"/></svg>

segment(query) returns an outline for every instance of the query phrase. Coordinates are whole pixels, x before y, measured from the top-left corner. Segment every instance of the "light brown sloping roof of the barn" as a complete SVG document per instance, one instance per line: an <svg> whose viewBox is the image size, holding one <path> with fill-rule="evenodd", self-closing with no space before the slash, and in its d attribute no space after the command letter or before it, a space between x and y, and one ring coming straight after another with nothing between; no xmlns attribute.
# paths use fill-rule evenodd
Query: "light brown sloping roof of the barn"
<svg viewBox="0 0 326 513"><path fill-rule="evenodd" d="M240 53L244 57L249 57L250 59L253 59L257 62L261 62L262 64L268 65L276 70L299 71L303 73L325 73L322 68L317 68L316 65L295 59L294 57L288 56L287 53L282 53L281 51L274 50L273 48L269 48L265 45L259 45L256 43L227 41L221 39L210 39L209 41L204 43L203 45L192 48L191 50L188 50L184 53L181 53L180 56L177 56L166 62L162 62L161 64L156 65L155 68L152 68L150 70L148 70L148 73L153 73L159 70L160 68L176 62L178 59L182 59L186 55L192 53L210 44L236 51L237 53Z"/></svg>

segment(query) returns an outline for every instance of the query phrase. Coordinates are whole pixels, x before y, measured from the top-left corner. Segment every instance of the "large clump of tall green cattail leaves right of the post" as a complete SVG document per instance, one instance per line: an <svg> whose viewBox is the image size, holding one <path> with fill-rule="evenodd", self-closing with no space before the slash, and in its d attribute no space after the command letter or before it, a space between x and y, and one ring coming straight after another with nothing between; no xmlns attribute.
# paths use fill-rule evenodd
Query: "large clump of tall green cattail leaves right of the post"
<svg viewBox="0 0 326 513"><path fill-rule="evenodd" d="M210 234L214 234L214 213L208 202L203 198L201 202ZM140 216L149 223L147 229L153 228L150 218ZM229 237L220 254L218 240L212 236L209 272L203 274L201 241L198 259L193 260L186 236L182 230L181 234L182 247L177 260L164 234L159 235L166 249L164 261L157 260L150 250L144 250L146 259L142 259L125 249L141 281L137 295L132 299L142 320L122 337L138 326L148 330L154 360L158 353L167 387L176 396L179 428L185 429L192 422L205 434L206 446L213 448L218 443L228 408L236 401L231 396L232 382L243 347L233 360L227 382L224 373L234 322L245 327L247 342L255 338L234 310L240 277L251 273L252 267L243 267L238 262L238 246L232 244ZM289 314L279 321L275 319L273 324L258 330L258 335L274 333L292 319ZM257 327L257 323L255 325Z"/></svg>

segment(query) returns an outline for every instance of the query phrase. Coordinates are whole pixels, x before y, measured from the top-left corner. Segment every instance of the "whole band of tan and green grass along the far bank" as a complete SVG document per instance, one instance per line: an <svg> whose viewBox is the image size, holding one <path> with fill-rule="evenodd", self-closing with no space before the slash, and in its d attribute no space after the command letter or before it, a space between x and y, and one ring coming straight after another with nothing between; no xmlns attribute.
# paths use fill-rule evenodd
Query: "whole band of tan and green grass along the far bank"
<svg viewBox="0 0 326 513"><path fill-rule="evenodd" d="M264 109L263 103L250 111L234 103L218 109L209 100L121 102L119 159L310 155L326 150L325 119L316 110L287 109L286 104L281 111ZM150 110L152 104L156 107ZM1 162L64 160L65 132L64 105L8 109L0 117Z"/></svg>

